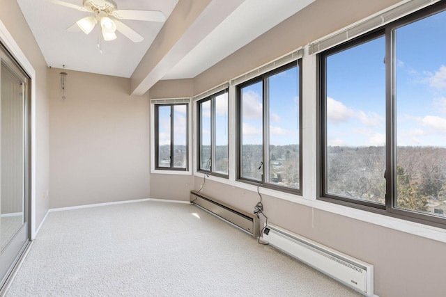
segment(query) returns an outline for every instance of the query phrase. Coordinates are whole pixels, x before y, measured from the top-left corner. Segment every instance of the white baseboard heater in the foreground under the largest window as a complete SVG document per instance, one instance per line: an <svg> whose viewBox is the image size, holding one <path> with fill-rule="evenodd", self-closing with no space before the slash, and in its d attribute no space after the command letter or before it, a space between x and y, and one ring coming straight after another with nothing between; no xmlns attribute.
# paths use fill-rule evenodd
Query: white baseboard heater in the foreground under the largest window
<svg viewBox="0 0 446 297"><path fill-rule="evenodd" d="M263 241L365 296L374 295L374 266L268 223Z"/></svg>

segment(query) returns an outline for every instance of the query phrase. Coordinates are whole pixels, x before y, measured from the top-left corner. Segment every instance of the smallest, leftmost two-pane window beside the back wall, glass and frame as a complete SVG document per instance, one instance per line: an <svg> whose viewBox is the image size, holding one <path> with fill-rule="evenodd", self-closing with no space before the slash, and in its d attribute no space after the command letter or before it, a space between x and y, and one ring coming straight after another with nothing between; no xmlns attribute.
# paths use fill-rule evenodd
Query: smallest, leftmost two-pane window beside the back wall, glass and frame
<svg viewBox="0 0 446 297"><path fill-rule="evenodd" d="M187 170L187 104L155 105L155 168Z"/></svg>

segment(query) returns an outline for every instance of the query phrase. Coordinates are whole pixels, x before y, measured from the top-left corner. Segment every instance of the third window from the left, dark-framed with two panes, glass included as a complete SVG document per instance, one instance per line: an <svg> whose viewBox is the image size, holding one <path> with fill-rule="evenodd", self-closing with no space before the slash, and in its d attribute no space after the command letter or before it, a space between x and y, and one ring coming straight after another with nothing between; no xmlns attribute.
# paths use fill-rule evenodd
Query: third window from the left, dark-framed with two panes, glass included
<svg viewBox="0 0 446 297"><path fill-rule="evenodd" d="M237 86L238 179L302 193L300 60Z"/></svg>

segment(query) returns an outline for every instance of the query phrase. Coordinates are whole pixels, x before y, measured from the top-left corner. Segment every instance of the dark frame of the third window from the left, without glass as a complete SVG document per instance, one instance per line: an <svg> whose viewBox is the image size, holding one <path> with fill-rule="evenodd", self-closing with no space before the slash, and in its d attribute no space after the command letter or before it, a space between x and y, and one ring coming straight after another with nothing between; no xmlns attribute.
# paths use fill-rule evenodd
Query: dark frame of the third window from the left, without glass
<svg viewBox="0 0 446 297"><path fill-rule="evenodd" d="M298 113L298 122L299 122L299 188L292 188L290 186L280 186L278 184L270 184L266 182L266 170L268 170L269 166L269 144L266 144L266 135L268 134L267 129L269 129L269 111L268 111L268 98L266 97L268 94L268 83L266 83L266 79L272 77L275 74L280 72L284 72L293 67L298 67L298 96L299 96L299 113ZM262 83L262 161L259 164L259 170L262 170L261 181L259 182L256 179L249 179L247 177L243 177L242 175L242 90L243 88L253 85L255 83ZM261 166L261 168L260 168ZM238 182L245 182L247 184L252 184L255 186L261 186L263 188L270 188L272 190L282 191L285 193L291 193L295 195L302 195L302 58L299 58L297 61L293 61L291 63L287 63L286 65L282 65L281 67L277 67L274 70L266 72L264 74L259 75L258 77L254 77L253 79L249 79L243 83L240 83L236 86L236 180Z"/></svg>

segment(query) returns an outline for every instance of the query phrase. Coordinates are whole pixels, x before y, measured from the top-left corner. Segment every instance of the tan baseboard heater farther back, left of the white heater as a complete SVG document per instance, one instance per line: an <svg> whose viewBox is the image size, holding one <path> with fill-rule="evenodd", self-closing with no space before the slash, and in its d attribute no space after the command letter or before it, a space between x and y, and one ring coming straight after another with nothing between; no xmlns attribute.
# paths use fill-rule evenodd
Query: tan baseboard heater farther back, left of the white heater
<svg viewBox="0 0 446 297"><path fill-rule="evenodd" d="M229 204L210 198L208 195L198 193L197 191L190 192L190 202L236 225L255 238L260 234L259 218L254 214L236 209Z"/></svg>

